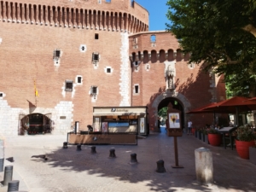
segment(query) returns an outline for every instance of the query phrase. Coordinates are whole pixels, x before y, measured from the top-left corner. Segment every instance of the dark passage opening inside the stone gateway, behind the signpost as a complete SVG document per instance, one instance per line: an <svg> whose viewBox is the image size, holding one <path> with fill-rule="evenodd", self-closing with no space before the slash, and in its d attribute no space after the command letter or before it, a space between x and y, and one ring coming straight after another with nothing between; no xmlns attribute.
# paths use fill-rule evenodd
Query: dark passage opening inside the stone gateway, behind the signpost
<svg viewBox="0 0 256 192"><path fill-rule="evenodd" d="M183 103L181 101L179 101L177 98L167 97L167 98L163 99L158 105L158 112L160 112L160 109L163 109L163 108L167 109L167 106L169 105L170 102L172 103L172 108L175 108L181 112L181 117L180 117L181 126L182 126L182 128L184 128L185 127L185 119L184 119ZM165 115L167 115L167 114L165 114ZM162 117L162 118L166 119L166 116ZM160 125L158 125L158 126L160 127Z"/></svg>

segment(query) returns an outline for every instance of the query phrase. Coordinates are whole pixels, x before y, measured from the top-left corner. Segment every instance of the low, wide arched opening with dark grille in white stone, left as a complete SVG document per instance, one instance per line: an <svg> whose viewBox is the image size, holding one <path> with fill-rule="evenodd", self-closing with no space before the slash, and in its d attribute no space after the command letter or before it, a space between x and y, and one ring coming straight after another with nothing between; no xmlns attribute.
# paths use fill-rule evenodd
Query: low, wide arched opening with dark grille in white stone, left
<svg viewBox="0 0 256 192"><path fill-rule="evenodd" d="M31 113L20 118L20 135L50 133L52 131L51 114Z"/></svg>

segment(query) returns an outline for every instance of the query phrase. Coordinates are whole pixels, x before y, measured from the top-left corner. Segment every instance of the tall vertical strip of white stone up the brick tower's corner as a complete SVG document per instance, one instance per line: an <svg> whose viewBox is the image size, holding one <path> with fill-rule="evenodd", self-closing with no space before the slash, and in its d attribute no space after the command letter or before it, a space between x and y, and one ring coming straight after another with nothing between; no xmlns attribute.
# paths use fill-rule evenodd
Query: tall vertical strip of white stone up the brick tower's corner
<svg viewBox="0 0 256 192"><path fill-rule="evenodd" d="M122 46L120 48L121 64L120 64L120 83L119 93L122 96L122 101L119 106L131 106L130 102L130 87L131 87L131 70L129 61L129 38L128 33L120 33Z"/></svg>

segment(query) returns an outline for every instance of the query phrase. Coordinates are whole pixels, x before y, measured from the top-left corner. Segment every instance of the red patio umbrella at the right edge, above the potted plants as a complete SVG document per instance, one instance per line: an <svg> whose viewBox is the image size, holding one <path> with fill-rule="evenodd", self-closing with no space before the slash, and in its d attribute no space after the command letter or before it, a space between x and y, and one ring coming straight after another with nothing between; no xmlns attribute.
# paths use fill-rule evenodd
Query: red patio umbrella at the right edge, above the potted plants
<svg viewBox="0 0 256 192"><path fill-rule="evenodd" d="M256 110L256 103L252 101L245 102L246 100L246 97L234 96L230 99L224 100L223 102L217 102L215 105L209 106L204 110L212 110L215 113L223 113L224 111L235 113L236 125L238 125L238 113Z"/></svg>

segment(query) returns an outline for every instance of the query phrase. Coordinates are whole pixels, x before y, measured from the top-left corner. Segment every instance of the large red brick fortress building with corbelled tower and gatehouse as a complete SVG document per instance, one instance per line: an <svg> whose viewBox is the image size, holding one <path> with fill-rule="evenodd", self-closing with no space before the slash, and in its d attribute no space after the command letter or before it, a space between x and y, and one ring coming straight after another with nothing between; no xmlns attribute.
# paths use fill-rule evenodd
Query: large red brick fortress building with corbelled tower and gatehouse
<svg viewBox="0 0 256 192"><path fill-rule="evenodd" d="M169 102L183 125L204 125L211 115L185 113L225 98L220 79L188 65L170 32L148 32L148 11L131 0L1 1L0 55L0 129L9 135L31 117L64 134L74 121L91 124L93 107L112 106L148 106L157 131Z"/></svg>

